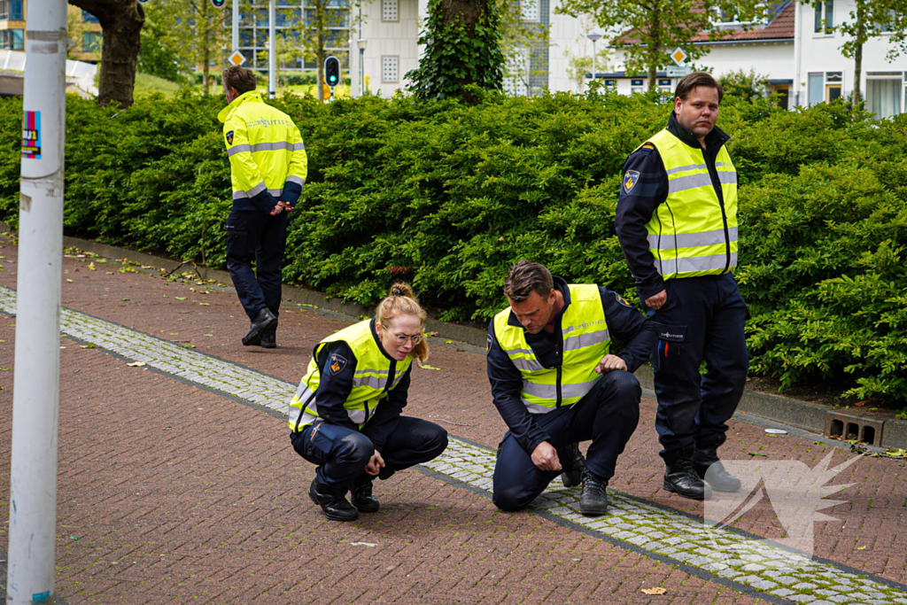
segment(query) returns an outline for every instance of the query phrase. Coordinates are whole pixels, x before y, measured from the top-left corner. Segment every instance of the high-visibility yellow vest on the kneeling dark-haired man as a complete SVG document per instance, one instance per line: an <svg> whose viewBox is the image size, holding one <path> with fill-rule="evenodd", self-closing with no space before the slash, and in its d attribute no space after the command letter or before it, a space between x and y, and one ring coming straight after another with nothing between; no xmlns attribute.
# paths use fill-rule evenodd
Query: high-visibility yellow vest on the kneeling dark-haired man
<svg viewBox="0 0 907 605"><path fill-rule="evenodd" d="M494 316L494 336L513 365L520 370L520 397L532 414L547 414L561 405L572 405L590 392L599 381L595 373L601 358L608 355L611 337L599 287L571 284L570 306L561 317L561 350L558 367L542 367L523 327L511 326L511 307Z"/></svg>

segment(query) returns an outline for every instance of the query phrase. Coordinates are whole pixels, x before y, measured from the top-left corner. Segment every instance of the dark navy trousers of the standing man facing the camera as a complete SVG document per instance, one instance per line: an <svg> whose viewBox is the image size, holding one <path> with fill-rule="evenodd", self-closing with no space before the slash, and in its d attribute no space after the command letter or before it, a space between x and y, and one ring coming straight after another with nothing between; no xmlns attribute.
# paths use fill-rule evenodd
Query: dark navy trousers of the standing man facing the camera
<svg viewBox="0 0 907 605"><path fill-rule="evenodd" d="M668 279L668 299L646 315L658 330L652 354L658 413L655 427L672 459L679 450L725 442L727 419L734 415L746 385L746 303L734 276ZM706 362L705 375L700 374Z"/></svg>

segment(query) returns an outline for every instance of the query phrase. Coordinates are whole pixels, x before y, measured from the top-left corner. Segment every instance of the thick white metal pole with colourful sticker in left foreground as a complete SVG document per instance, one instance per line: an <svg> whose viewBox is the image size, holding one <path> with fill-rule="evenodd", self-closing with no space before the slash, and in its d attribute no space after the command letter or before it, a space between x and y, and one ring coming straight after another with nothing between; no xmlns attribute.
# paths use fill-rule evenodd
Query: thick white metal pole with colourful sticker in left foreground
<svg viewBox="0 0 907 605"><path fill-rule="evenodd" d="M30 0L25 30L6 579L12 605L54 600L66 0Z"/></svg>

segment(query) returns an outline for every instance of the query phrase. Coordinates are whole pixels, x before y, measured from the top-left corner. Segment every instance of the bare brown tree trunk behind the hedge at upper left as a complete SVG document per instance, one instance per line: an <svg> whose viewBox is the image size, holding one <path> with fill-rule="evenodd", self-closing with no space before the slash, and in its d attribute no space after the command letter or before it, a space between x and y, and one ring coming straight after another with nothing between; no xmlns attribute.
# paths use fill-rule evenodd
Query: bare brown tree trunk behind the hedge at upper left
<svg viewBox="0 0 907 605"><path fill-rule="evenodd" d="M135 68L141 47L145 11L135 0L72 0L70 3L98 18L103 33L98 105L132 105Z"/></svg>

